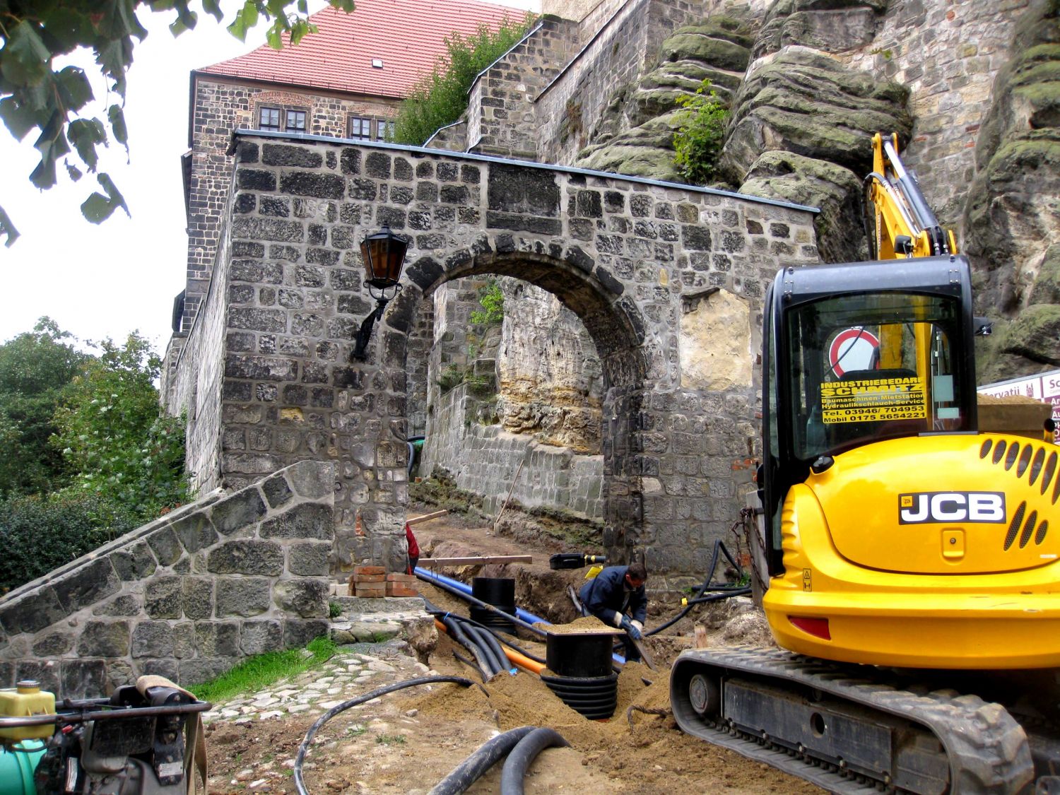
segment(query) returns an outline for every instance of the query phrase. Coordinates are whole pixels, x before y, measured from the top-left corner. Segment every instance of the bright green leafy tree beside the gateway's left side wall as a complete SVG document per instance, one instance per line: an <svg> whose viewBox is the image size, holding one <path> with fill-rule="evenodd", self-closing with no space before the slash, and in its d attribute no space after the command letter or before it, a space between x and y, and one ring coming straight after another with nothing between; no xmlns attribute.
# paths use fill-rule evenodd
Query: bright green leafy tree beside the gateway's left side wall
<svg viewBox="0 0 1060 795"><path fill-rule="evenodd" d="M161 360L143 337L134 332L101 349L56 411L53 441L77 488L146 522L188 500L184 420L160 416Z"/></svg>

